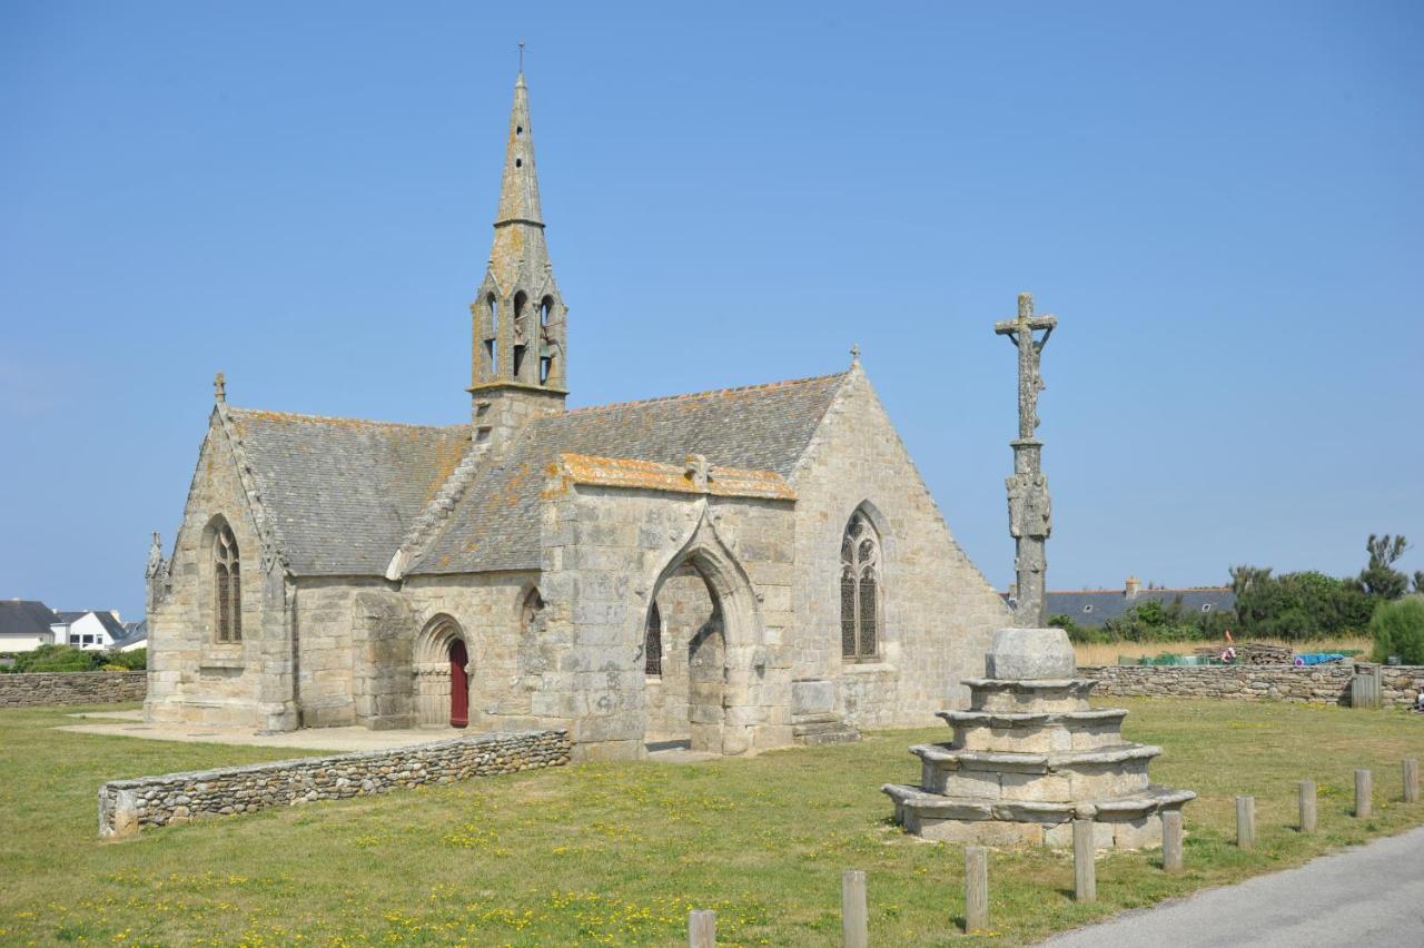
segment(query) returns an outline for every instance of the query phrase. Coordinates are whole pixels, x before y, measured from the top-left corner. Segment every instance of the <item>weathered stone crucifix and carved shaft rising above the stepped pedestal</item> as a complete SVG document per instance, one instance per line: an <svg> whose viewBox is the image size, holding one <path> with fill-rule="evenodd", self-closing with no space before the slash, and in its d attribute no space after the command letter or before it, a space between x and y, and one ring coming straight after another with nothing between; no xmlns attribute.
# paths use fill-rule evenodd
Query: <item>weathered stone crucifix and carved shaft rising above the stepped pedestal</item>
<svg viewBox="0 0 1424 948"><path fill-rule="evenodd" d="M1018 347L1018 437L1012 441L1014 475L1004 481L1008 488L1008 532L1014 538L1015 606L1014 622L1020 628L1042 628L1044 571L1047 559L1044 541L1052 530L1048 501L1048 478L1042 473L1044 443L1034 437L1038 428L1038 393L1044 377L1038 362L1058 319L1034 316L1034 297L1018 295L1018 319L994 323L994 332L1008 336ZM1035 339L1034 333L1042 330Z"/></svg>

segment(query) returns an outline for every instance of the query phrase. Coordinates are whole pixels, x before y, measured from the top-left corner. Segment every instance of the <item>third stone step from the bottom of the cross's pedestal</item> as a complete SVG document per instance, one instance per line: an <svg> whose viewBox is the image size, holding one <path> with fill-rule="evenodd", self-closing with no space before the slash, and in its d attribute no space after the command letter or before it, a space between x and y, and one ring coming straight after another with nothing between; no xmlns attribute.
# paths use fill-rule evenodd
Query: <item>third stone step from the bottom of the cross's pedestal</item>
<svg viewBox="0 0 1424 948"><path fill-rule="evenodd" d="M1059 752L1095 750L1122 743L1118 707L1034 712L938 712L954 729L954 744L964 750Z"/></svg>

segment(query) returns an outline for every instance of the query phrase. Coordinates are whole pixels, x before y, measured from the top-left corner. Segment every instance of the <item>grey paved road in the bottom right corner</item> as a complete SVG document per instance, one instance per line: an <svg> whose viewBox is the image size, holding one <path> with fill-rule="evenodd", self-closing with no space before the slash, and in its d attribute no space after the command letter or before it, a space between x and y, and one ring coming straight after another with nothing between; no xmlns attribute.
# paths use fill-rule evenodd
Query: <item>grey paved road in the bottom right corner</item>
<svg viewBox="0 0 1424 948"><path fill-rule="evenodd" d="M1424 945L1424 828L1054 938L1052 948Z"/></svg>

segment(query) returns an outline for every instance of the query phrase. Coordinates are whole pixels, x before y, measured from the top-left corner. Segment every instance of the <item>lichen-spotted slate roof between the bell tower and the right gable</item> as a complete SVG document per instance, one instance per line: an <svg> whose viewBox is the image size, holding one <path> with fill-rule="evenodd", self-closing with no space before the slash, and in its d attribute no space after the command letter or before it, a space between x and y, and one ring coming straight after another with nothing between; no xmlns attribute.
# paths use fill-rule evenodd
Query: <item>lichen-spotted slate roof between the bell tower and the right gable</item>
<svg viewBox="0 0 1424 948"><path fill-rule="evenodd" d="M682 464L689 453L698 453L718 467L790 477L844 377L837 373L535 418L500 461L476 477L407 572L537 569L540 491L562 453L664 464Z"/></svg>

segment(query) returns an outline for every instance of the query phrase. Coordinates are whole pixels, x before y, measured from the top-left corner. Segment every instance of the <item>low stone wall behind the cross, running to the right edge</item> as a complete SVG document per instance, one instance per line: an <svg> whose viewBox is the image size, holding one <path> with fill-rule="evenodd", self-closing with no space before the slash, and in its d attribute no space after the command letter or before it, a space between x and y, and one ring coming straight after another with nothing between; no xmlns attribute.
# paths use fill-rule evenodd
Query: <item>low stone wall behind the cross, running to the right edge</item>
<svg viewBox="0 0 1424 948"><path fill-rule="evenodd" d="M1350 705L1350 665L1092 665L1078 673L1094 678L1094 695L1138 697L1223 697L1302 705ZM1384 707L1411 707L1424 688L1424 666L1383 669Z"/></svg>

